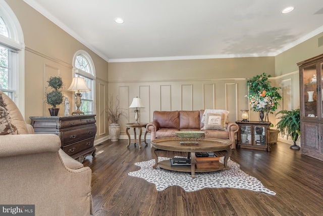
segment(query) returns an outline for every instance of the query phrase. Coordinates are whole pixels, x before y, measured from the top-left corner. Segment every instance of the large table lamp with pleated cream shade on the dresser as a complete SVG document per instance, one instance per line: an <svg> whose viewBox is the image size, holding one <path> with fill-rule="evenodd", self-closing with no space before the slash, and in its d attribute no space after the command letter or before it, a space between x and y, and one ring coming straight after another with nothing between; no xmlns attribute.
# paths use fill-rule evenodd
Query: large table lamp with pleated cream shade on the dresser
<svg viewBox="0 0 323 216"><path fill-rule="evenodd" d="M72 80L72 83L70 85L70 87L68 88L68 91L71 91L71 92L77 92L75 93L75 104L76 104L76 107L77 109L72 112L72 115L84 115L84 112L82 112L80 110L80 106L82 104L81 102L81 97L82 97L82 94L80 93L81 92L89 92L91 91L87 85L85 84L85 81L84 81L84 78L83 77L73 77L73 80Z"/></svg>

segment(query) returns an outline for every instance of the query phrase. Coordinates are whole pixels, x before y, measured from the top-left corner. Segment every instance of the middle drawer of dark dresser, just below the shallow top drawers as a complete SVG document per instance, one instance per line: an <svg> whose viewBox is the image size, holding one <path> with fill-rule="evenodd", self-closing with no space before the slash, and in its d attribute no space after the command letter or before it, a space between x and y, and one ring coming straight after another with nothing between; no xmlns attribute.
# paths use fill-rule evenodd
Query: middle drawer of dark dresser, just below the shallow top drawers
<svg viewBox="0 0 323 216"><path fill-rule="evenodd" d="M95 124L89 125L79 129L72 129L71 131L62 132L63 143L62 146L69 145L71 143L75 143L89 137L94 137L96 133Z"/></svg>

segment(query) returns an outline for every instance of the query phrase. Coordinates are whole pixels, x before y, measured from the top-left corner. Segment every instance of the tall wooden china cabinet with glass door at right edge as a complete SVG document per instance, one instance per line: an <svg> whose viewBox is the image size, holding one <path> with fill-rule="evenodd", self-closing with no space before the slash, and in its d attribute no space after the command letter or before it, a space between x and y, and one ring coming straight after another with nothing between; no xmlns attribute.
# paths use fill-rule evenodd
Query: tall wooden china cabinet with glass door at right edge
<svg viewBox="0 0 323 216"><path fill-rule="evenodd" d="M297 63L300 82L301 152L323 160L323 54Z"/></svg>

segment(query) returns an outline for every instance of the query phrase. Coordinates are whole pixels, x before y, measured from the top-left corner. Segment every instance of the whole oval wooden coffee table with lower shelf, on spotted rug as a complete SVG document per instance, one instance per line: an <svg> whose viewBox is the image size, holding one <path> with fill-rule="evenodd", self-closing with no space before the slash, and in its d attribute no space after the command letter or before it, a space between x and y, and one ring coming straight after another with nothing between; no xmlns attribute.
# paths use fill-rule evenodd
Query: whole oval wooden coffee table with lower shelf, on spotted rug
<svg viewBox="0 0 323 216"><path fill-rule="evenodd" d="M198 141L198 145L181 145L180 140L178 138L165 138L165 139L155 139L150 141L151 144L151 154L155 159L155 165L153 168L156 168L157 165L160 168L175 170L175 171L184 171L191 172L192 178L195 178L195 172L209 172L209 171L217 171L221 169L230 169L228 166L228 159L231 156L232 143L228 140L221 139L204 139L202 141ZM169 160L160 161L158 163L158 157L156 155L155 150L166 150L166 151L179 151L179 152L187 152L188 157L191 157L191 166L171 166ZM207 168L207 169L197 169L195 168L196 157L195 152L220 152L226 151L226 155L224 157L224 164L220 163L219 168Z"/></svg>

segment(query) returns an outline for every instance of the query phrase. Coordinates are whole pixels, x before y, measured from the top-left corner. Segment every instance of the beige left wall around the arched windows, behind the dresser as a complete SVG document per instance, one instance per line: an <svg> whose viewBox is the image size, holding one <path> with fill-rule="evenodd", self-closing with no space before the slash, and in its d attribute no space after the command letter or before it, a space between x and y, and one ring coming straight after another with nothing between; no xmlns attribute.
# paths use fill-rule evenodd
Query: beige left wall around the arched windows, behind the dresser
<svg viewBox="0 0 323 216"><path fill-rule="evenodd" d="M67 92L67 88L72 81L74 54L84 50L94 62L97 77L95 83L98 126L96 140L107 136L102 132L105 119L101 115L104 109L101 100L104 100L107 95L107 62L23 1L6 0L6 2L18 18L24 34L26 121L30 123L29 116L49 115L48 106L43 103L46 80L49 76L62 76L65 84L64 95L67 95L71 104L74 104L72 101L74 97L71 92ZM64 106L61 105L60 108L62 109L59 115L64 115Z"/></svg>

